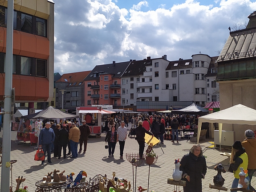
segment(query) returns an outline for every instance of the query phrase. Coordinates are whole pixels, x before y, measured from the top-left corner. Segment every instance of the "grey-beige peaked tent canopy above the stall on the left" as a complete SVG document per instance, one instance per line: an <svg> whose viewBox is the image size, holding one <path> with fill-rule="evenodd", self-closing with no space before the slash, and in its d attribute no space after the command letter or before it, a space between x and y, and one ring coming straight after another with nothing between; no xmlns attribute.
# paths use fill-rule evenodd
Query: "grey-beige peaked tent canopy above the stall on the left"
<svg viewBox="0 0 256 192"><path fill-rule="evenodd" d="M34 114L30 114L27 116L22 116L22 118L26 119L73 119L78 118L76 115L72 115L70 113L63 112L57 108L53 108L50 106L42 110L41 112L37 112Z"/></svg>

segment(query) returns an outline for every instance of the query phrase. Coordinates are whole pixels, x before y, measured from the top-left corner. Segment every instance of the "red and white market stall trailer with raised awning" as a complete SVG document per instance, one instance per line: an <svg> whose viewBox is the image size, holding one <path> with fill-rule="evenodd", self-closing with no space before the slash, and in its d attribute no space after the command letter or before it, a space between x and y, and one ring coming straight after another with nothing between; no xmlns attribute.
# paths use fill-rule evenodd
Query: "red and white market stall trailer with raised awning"
<svg viewBox="0 0 256 192"><path fill-rule="evenodd" d="M102 109L101 107L77 107L77 115L81 120L86 120L86 116L91 116L91 122L89 127L91 128L91 134L101 135L102 133L102 115L115 113ZM86 124L89 122L86 120Z"/></svg>

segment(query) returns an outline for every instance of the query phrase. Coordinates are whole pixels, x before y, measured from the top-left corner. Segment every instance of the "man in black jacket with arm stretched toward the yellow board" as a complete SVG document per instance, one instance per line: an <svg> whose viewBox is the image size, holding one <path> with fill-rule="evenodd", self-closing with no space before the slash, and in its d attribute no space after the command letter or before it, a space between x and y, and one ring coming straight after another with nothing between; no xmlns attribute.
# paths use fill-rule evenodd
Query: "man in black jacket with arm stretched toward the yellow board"
<svg viewBox="0 0 256 192"><path fill-rule="evenodd" d="M139 146L139 149L138 149L138 154L139 154L139 157L140 159L143 158L143 152L144 152L144 147L145 147L145 133L153 136L152 133L150 133L149 131L147 131L144 127L142 127L142 124L143 122L140 120L138 122L138 127L136 127L136 140L138 142L138 146Z"/></svg>

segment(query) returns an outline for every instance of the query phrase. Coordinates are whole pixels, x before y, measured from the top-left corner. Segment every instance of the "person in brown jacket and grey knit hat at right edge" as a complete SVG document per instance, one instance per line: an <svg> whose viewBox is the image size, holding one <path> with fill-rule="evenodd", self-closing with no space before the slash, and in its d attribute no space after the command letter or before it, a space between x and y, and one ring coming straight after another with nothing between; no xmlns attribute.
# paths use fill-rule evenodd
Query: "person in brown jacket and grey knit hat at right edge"
<svg viewBox="0 0 256 192"><path fill-rule="evenodd" d="M246 130L244 132L244 135L246 139L242 142L242 146L248 155L247 170L248 170L248 176L250 178L249 189L252 191L255 191L255 189L251 185L251 181L252 181L252 175L256 171L256 160L255 160L256 139L254 137L254 132L250 129Z"/></svg>

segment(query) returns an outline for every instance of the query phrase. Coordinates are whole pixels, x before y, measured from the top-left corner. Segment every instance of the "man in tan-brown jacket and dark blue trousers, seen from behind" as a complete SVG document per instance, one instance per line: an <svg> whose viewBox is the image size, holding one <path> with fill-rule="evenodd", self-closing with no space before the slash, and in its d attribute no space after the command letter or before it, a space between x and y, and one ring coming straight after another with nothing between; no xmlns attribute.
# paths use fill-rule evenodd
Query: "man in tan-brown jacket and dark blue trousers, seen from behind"
<svg viewBox="0 0 256 192"><path fill-rule="evenodd" d="M69 143L71 149L71 158L76 158L77 154L77 147L80 138L80 130L76 127L74 123L72 123L72 128L69 130Z"/></svg>

